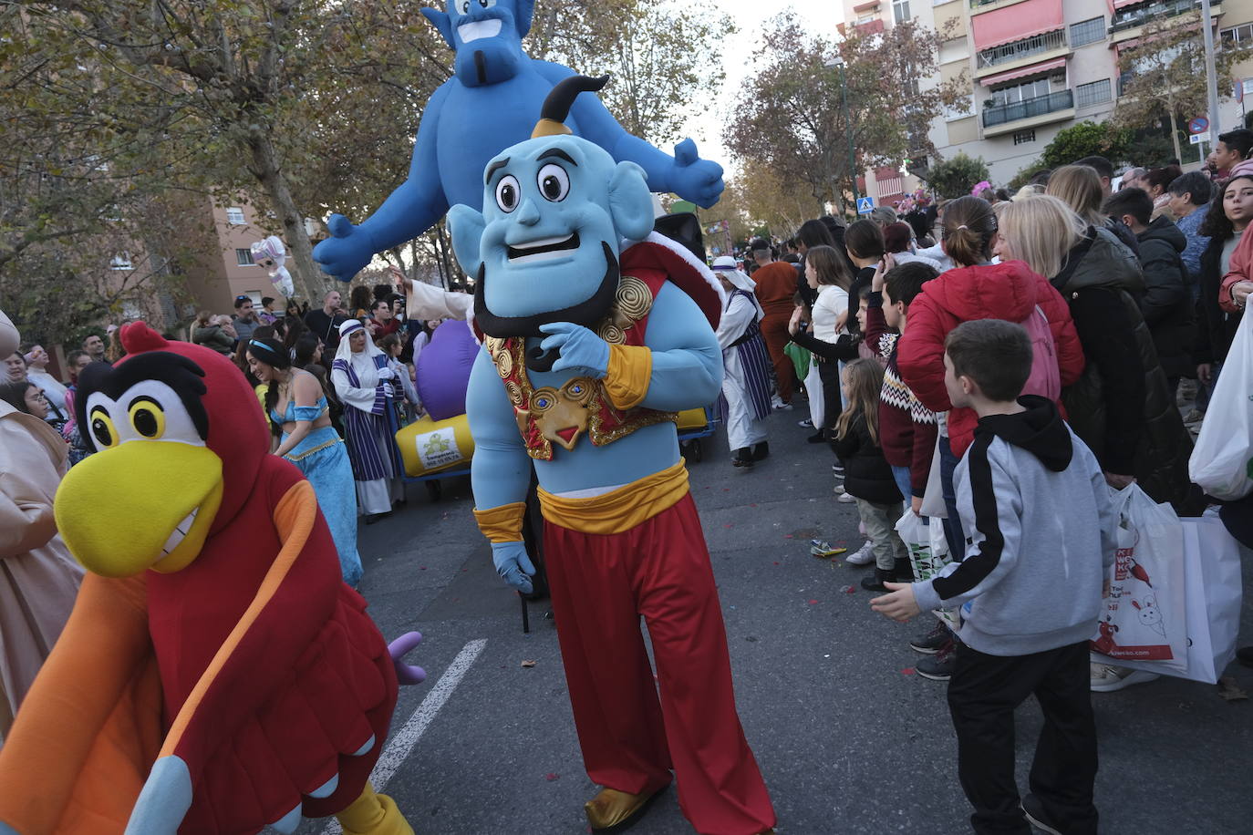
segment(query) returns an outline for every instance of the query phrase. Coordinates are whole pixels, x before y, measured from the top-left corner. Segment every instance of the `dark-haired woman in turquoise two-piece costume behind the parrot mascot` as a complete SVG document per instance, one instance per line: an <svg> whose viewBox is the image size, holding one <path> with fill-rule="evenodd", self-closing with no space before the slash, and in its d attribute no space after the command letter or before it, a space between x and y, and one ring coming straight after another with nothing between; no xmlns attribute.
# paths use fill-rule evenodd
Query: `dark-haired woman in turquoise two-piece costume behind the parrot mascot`
<svg viewBox="0 0 1253 835"><path fill-rule="evenodd" d="M269 428L278 439L274 454L287 458L313 484L317 505L331 528L340 553L343 582L361 582L357 553L357 513L352 488L352 466L340 434L331 426L331 412L317 378L292 368L291 354L277 339L248 341L248 367L264 389L263 402Z"/></svg>

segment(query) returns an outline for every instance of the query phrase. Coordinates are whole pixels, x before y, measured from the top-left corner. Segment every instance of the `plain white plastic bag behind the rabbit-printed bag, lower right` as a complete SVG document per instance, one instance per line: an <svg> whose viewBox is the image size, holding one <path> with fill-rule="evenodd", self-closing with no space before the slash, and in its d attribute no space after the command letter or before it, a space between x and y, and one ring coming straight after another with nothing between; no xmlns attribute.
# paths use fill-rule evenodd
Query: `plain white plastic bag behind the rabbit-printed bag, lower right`
<svg viewBox="0 0 1253 835"><path fill-rule="evenodd" d="M1155 661L1118 661L1119 666L1218 684L1235 657L1240 628L1240 552L1219 520L1184 518L1184 586L1188 598L1187 667L1179 672Z"/></svg>

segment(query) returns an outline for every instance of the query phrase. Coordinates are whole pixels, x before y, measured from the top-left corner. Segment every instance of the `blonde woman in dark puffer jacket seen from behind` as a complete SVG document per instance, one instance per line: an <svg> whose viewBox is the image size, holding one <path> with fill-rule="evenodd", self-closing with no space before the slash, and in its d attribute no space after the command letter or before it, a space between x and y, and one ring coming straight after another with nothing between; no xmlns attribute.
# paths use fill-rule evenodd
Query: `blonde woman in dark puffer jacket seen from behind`
<svg viewBox="0 0 1253 835"><path fill-rule="evenodd" d="M1006 205L1000 219L997 254L1048 275L1070 305L1088 359L1063 396L1075 433L1110 484L1139 481L1154 501L1184 512L1192 439L1135 302L1144 292L1139 260L1051 195Z"/></svg>

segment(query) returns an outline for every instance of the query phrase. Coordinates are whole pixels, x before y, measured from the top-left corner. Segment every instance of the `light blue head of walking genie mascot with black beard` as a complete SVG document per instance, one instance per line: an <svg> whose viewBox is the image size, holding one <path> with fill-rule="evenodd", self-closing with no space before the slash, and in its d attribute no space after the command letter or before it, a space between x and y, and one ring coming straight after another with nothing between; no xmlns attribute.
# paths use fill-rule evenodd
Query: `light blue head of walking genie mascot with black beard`
<svg viewBox="0 0 1253 835"><path fill-rule="evenodd" d="M605 81L558 84L533 138L487 163L482 213L449 212L457 260L477 279L475 322L489 337L538 337L551 322L591 327L613 305L620 242L653 229L644 170L561 124L580 91Z"/></svg>

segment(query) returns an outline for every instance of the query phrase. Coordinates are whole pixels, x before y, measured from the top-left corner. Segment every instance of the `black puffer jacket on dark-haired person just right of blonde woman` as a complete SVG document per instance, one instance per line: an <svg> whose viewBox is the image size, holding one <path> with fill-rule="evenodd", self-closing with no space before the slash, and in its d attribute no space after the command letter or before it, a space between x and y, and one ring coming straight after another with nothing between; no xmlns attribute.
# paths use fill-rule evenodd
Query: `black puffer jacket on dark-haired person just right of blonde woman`
<svg viewBox="0 0 1253 835"><path fill-rule="evenodd" d="M1144 269L1145 293L1138 300L1144 323L1153 334L1158 362L1167 378L1192 377L1193 323L1192 293L1180 253L1188 237L1168 218L1158 218L1148 229L1135 235L1140 242L1140 267Z"/></svg>

